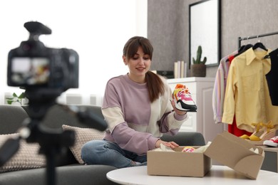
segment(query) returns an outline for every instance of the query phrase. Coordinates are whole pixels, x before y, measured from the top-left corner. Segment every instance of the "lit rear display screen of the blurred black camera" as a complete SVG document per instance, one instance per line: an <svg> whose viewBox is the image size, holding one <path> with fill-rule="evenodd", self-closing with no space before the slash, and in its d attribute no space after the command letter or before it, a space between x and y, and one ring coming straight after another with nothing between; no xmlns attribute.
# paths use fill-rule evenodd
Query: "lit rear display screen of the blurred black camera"
<svg viewBox="0 0 278 185"><path fill-rule="evenodd" d="M11 58L11 80L17 85L45 85L49 80L48 58Z"/></svg>

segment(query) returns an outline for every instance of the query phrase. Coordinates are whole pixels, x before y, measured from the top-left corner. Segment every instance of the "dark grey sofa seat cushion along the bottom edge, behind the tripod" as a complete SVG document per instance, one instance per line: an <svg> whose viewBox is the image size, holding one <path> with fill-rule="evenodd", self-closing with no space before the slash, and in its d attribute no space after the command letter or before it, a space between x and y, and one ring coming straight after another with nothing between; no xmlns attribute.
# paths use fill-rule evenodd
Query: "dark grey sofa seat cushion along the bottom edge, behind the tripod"
<svg viewBox="0 0 278 185"><path fill-rule="evenodd" d="M108 171L116 169L105 165L68 165L56 167L56 185L109 185L116 183L107 179ZM46 169L11 171L0 175L1 185L45 185Z"/></svg>

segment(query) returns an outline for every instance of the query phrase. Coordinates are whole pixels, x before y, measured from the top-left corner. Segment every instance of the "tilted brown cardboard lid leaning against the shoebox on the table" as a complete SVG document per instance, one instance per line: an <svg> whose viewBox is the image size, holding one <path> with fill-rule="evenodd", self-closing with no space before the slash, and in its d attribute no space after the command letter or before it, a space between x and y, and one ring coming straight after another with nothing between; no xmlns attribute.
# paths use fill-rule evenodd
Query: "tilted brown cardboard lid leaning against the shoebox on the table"
<svg viewBox="0 0 278 185"><path fill-rule="evenodd" d="M257 150L258 154L250 149ZM264 161L264 150L229 132L218 134L205 155L217 162L229 166L249 179L257 179Z"/></svg>

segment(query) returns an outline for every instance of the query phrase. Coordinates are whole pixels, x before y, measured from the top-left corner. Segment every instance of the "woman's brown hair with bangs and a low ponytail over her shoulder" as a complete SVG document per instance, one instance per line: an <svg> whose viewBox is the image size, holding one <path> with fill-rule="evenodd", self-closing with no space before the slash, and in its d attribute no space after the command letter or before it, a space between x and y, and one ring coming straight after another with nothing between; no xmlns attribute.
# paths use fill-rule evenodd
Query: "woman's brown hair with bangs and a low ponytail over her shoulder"
<svg viewBox="0 0 278 185"><path fill-rule="evenodd" d="M153 58L153 46L148 40L142 36L134 36L130 38L123 47L123 56L127 59L132 58L138 51L138 48L142 47L143 52L150 56L150 60ZM165 93L165 88L163 81L160 76L155 73L148 71L145 75L146 83L148 86L148 92L150 97L150 102L154 102L158 99L159 95Z"/></svg>

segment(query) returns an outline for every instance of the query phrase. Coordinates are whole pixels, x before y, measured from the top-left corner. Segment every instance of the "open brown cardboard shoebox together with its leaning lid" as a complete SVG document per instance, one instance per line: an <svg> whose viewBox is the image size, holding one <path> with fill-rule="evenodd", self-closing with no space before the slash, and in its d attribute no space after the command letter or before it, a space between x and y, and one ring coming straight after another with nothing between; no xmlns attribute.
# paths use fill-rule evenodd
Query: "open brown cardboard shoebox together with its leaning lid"
<svg viewBox="0 0 278 185"><path fill-rule="evenodd" d="M249 179L257 179L264 160L262 148L229 132L218 134L204 153L181 152L182 149L177 147L176 152L149 151L148 174L202 177L210 171L211 159L215 159ZM258 153L250 149L257 149Z"/></svg>

